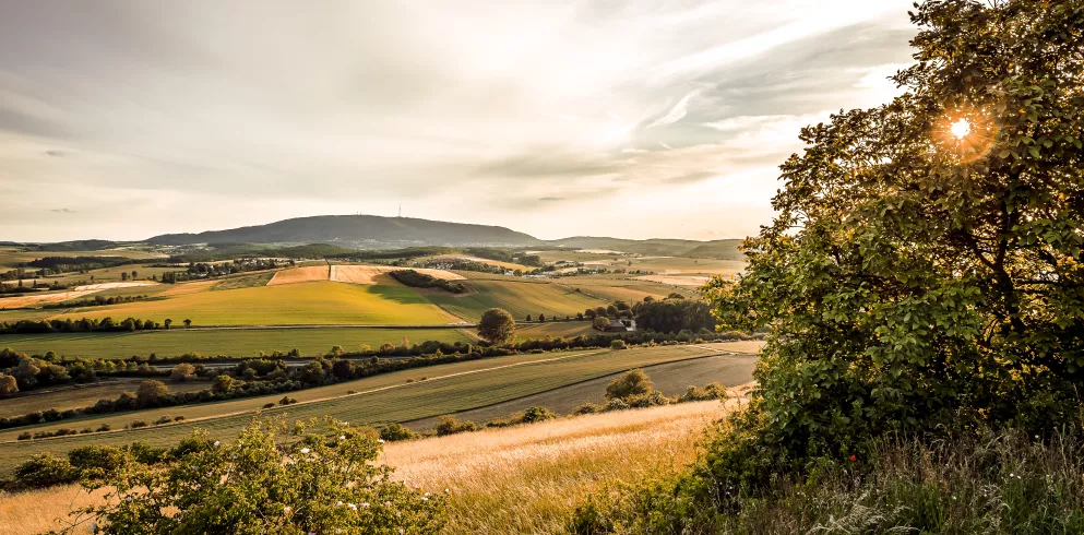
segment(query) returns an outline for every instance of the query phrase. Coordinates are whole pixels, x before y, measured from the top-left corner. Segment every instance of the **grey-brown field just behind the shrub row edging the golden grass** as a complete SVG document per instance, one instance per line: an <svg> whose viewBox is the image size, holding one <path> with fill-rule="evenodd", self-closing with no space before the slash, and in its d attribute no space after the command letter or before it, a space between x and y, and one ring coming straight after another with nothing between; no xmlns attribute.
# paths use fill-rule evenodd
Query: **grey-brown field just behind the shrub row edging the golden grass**
<svg viewBox="0 0 1084 535"><path fill-rule="evenodd" d="M645 366L644 372L655 383L655 390L666 395L683 394L689 387L703 387L717 381L724 387L739 387L752 381L753 368L757 366L757 355L717 355L706 358L680 360L677 362ZM507 418L509 415L528 407L546 407L559 415L572 414L583 403L606 404L606 385L622 372L614 373L589 381L561 387L557 390L538 394L516 397L503 403L486 407L472 408L455 414L463 421L484 423L493 418ZM437 418L425 418L406 424L413 429L432 429Z"/></svg>

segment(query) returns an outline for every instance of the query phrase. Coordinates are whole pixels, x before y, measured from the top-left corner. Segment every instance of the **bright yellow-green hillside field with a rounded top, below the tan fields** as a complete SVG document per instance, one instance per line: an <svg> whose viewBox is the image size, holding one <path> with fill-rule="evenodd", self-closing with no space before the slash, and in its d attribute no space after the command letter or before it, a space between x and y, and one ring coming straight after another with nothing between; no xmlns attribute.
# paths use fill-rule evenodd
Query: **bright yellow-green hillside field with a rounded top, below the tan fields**
<svg viewBox="0 0 1084 535"><path fill-rule="evenodd" d="M215 284L212 281L210 288ZM187 286L187 285L186 285ZM169 299L88 307L57 318L112 317L163 321L186 318L196 325L437 325L457 321L406 286L358 286L313 282L198 292Z"/></svg>

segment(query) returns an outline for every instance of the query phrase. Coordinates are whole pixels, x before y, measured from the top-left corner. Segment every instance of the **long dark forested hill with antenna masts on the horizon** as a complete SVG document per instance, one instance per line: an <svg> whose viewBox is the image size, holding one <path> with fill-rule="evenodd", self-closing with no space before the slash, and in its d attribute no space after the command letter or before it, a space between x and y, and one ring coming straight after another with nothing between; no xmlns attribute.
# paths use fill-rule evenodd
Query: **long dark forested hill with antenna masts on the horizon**
<svg viewBox="0 0 1084 535"><path fill-rule="evenodd" d="M504 227L377 215L298 217L228 230L167 234L155 236L147 242L155 245L329 242L356 247L401 245L522 247L540 243L532 236Z"/></svg>

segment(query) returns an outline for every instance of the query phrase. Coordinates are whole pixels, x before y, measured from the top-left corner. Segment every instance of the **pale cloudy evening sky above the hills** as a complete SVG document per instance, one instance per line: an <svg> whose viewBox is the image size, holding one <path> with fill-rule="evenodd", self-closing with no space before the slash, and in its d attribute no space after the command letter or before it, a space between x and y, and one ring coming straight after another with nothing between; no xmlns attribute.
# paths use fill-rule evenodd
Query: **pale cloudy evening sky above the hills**
<svg viewBox="0 0 1084 535"><path fill-rule="evenodd" d="M886 103L909 0L0 0L0 240L374 214L544 239L772 219Z"/></svg>

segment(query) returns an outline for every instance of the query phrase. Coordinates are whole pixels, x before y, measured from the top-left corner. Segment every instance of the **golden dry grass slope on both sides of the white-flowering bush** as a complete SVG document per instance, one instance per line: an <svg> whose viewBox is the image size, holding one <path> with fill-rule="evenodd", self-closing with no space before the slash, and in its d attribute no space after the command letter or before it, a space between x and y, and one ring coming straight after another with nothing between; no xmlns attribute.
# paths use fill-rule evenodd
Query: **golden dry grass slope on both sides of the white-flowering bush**
<svg viewBox="0 0 1084 535"><path fill-rule="evenodd" d="M732 405L732 403L731 403ZM449 489L444 533L561 533L582 500L606 488L676 472L695 455L718 402L562 418L385 444L394 476ZM102 503L78 487L0 496L0 535L39 533L76 507Z"/></svg>

